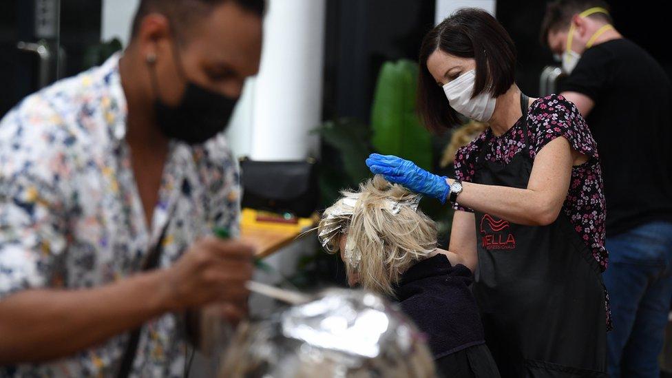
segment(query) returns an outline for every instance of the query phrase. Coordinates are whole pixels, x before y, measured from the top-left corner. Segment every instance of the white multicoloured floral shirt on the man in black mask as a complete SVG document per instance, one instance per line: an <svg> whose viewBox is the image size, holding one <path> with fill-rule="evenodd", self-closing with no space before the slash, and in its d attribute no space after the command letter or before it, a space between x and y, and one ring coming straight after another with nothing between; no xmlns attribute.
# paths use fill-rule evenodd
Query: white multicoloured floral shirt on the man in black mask
<svg viewBox="0 0 672 378"><path fill-rule="evenodd" d="M222 135L171 142L152 224L146 224L125 142L120 55L25 98L0 122L0 300L29 288L91 288L140 270L162 229L160 267L213 227L238 233L238 170ZM181 314L143 327L133 376L181 377ZM0 377L114 377L127 333Z"/></svg>

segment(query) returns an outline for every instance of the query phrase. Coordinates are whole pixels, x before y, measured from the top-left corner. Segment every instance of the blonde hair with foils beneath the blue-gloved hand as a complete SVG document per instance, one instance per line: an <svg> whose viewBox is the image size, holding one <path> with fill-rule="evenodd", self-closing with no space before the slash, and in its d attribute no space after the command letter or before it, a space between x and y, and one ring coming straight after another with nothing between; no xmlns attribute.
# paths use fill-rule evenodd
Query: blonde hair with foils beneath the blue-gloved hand
<svg viewBox="0 0 672 378"><path fill-rule="evenodd" d="M437 224L417 210L419 194L382 176L360 184L359 192L342 195L317 226L322 245L337 253L339 239L346 235L348 277L357 273L362 287L394 295L392 285L401 273L437 249Z"/></svg>

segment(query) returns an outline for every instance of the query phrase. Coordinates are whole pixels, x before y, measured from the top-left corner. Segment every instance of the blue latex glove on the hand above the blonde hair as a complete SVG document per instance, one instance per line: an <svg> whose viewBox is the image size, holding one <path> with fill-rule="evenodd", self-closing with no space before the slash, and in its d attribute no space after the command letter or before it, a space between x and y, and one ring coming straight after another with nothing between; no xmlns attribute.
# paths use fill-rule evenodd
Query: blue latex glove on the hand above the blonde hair
<svg viewBox="0 0 672 378"><path fill-rule="evenodd" d="M389 182L401 184L408 189L432 196L445 203L450 185L445 176L430 174L410 160L392 155L370 154L366 165L374 174L381 174Z"/></svg>

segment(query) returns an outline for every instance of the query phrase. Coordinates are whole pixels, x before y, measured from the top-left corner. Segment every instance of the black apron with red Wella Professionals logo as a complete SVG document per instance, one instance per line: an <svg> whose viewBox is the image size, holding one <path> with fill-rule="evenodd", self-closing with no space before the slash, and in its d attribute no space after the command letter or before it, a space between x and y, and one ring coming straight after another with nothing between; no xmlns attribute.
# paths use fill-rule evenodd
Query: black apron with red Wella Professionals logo
<svg viewBox="0 0 672 378"><path fill-rule="evenodd" d="M523 149L505 166L476 161L474 182L525 189L532 171L528 98ZM605 291L597 262L564 211L543 227L475 213L479 266L473 285L485 342L502 377L607 377Z"/></svg>

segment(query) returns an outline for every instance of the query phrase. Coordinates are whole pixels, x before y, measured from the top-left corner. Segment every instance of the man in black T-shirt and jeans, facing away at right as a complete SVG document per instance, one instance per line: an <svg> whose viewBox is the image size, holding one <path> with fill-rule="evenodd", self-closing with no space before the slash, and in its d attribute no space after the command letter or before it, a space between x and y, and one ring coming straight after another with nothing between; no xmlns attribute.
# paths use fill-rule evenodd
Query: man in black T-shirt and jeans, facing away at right
<svg viewBox="0 0 672 378"><path fill-rule="evenodd" d="M576 104L598 143L607 198L614 330L611 377L658 377L672 297L671 85L645 50L611 25L600 0L556 0L541 38L569 75L561 94Z"/></svg>

